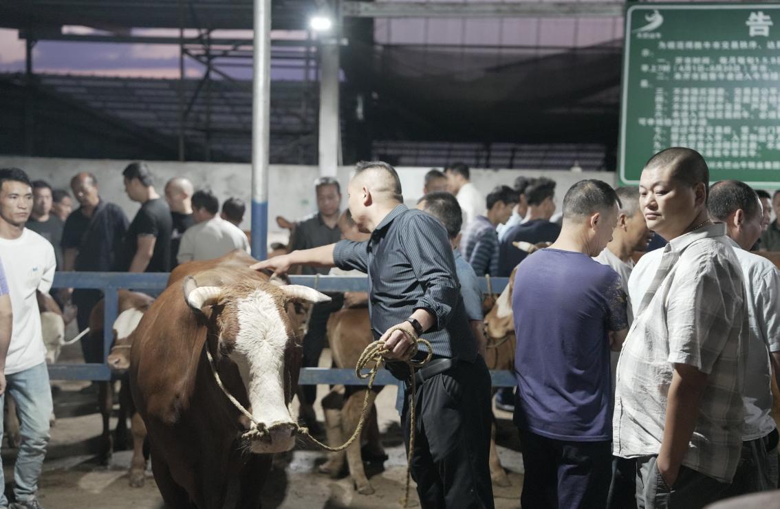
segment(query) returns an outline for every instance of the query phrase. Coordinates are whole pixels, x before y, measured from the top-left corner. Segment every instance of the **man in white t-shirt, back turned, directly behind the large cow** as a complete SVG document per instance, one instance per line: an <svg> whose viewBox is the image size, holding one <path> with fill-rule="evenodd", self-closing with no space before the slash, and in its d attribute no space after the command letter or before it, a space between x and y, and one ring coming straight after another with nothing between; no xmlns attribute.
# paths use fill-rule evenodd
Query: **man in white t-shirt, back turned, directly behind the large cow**
<svg viewBox="0 0 780 509"><path fill-rule="evenodd" d="M187 228L179 243L176 260L179 263L192 260L212 260L236 249L250 253L249 240L239 227L217 215L219 200L211 191L200 190L193 194L193 219L196 224Z"/></svg>

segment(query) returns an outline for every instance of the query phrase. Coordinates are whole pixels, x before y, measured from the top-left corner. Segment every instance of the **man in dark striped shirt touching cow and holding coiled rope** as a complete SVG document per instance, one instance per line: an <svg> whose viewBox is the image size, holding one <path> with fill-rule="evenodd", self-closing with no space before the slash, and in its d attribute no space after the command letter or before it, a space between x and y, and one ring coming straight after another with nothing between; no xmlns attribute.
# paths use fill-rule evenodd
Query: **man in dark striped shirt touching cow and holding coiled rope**
<svg viewBox="0 0 780 509"><path fill-rule="evenodd" d="M403 204L390 164L358 163L347 190L349 210L360 231L371 233L369 240L293 251L254 268L284 274L292 265L310 264L367 273L374 340L385 341L390 351L385 366L406 383L405 437L410 398L416 405L412 477L422 507L494 507L488 468L491 378L477 354L445 227ZM410 373L398 361L410 359L412 339L420 335L431 342L434 356L416 371L417 391L410 394Z"/></svg>

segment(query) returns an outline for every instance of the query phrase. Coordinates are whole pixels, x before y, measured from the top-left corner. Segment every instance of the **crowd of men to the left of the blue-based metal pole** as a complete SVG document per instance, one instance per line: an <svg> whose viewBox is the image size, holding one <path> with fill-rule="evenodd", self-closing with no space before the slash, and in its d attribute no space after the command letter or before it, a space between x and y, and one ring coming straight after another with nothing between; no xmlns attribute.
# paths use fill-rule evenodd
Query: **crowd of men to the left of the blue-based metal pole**
<svg viewBox="0 0 780 509"><path fill-rule="evenodd" d="M234 249L250 251L239 228L245 205L229 198L219 213L218 198L195 191L184 177L171 179L160 196L144 162L123 171L125 191L140 203L132 221L115 203L101 199L97 178L73 176L70 191L30 181L19 168L0 169L0 405L5 391L19 408L22 437L14 473L11 507L41 507L35 497L48 442L51 390L44 363L37 292L51 290L55 270L87 272L168 272L178 263L208 260ZM52 292L60 306L76 309L79 330L88 327L99 290ZM67 313L66 313L67 315ZM103 362L102 341L81 341L85 362ZM0 427L2 432L2 427ZM0 509L9 507L0 471Z"/></svg>

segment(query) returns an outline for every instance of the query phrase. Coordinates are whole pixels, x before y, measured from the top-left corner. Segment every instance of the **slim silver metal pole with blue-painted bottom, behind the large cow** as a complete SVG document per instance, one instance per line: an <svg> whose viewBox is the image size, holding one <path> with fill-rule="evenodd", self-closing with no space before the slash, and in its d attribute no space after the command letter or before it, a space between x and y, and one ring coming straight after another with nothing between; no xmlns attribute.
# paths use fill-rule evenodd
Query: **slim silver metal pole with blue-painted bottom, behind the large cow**
<svg viewBox="0 0 780 509"><path fill-rule="evenodd" d="M268 256L268 148L271 135L271 0L254 0L252 81L252 255Z"/></svg>

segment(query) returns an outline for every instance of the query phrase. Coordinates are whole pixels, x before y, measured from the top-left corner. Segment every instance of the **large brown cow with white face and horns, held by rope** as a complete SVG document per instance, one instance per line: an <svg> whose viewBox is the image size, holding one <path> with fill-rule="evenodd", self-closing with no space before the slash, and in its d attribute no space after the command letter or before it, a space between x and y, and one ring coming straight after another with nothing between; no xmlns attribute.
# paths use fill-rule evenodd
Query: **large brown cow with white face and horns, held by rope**
<svg viewBox="0 0 780 509"><path fill-rule="evenodd" d="M148 433L154 479L172 508L222 507L229 494L236 507L259 507L271 453L289 451L296 441L289 403L301 348L286 305L329 298L273 285L231 257L211 260L211 267L177 267L179 274L200 270L184 279L172 274L134 333L131 392ZM254 422L218 386L206 352L225 391Z"/></svg>

